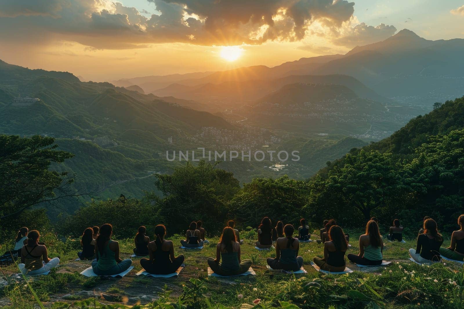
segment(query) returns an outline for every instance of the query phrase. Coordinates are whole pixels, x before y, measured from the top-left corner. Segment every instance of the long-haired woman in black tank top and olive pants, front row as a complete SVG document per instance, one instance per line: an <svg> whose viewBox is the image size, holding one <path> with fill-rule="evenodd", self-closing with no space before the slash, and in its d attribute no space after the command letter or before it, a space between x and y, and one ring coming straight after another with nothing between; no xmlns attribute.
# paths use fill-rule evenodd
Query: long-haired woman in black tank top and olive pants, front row
<svg viewBox="0 0 464 309"><path fill-rule="evenodd" d="M329 241L324 243L324 258L313 258L313 263L323 271L344 271L346 267L345 253L348 241L343 230L338 225L329 229Z"/></svg>

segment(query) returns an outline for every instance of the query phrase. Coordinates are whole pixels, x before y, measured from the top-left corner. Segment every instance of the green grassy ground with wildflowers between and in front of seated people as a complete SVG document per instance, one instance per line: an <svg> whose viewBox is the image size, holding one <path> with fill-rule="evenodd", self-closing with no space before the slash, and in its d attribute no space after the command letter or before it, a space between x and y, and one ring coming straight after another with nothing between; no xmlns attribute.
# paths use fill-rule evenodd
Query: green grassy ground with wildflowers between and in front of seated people
<svg viewBox="0 0 464 309"><path fill-rule="evenodd" d="M360 233L349 232L352 247L348 252L357 253ZM261 301L254 308L414 308L418 304L421 308L462 308L464 304L462 265L443 261L432 266L421 266L407 261L407 250L415 246L415 240L406 244L387 242L384 259L393 260L392 264L376 268L375 273L354 271L348 275L316 272L309 263L314 256L322 257L323 246L316 242L303 243L299 254L303 256L308 273L293 276L268 271L266 258L274 257L275 251L257 251L254 249L253 233L249 235L251 238L245 239L245 244L241 246L242 259L253 261L256 276L227 279L207 277L206 259L214 256L215 244L219 239L210 238L210 245L203 250L182 250L177 248L181 237L174 236L170 239L176 245L175 254L182 253L186 258L186 267L179 277L159 279L135 276L135 272L142 267L139 259L134 258L134 270L123 278L87 278L79 272L90 266L90 261L74 262L78 242L68 240L66 244L49 247L49 255L59 255L61 266L48 276L28 280L45 307L50 308L126 308L121 302L127 306L134 305L134 300L141 295L150 298L141 301L147 307L133 308L253 308L251 305L256 299ZM133 240L119 242L121 258L128 258ZM449 240L444 246L448 244ZM348 266L359 270L355 265ZM2 271L6 274L17 272L14 266L3 267ZM89 295L79 294L82 290L95 291L97 299L85 300ZM151 298L157 301L153 303ZM22 281L9 282L0 300L1 303L9 303L0 308L33 308L34 303L30 290ZM208 301L211 307L208 307ZM290 302L297 307L285 307L287 304L279 301ZM119 307L104 307L98 302L117 303ZM173 307L166 307L165 303L173 303ZM242 307L243 304L250 306Z"/></svg>

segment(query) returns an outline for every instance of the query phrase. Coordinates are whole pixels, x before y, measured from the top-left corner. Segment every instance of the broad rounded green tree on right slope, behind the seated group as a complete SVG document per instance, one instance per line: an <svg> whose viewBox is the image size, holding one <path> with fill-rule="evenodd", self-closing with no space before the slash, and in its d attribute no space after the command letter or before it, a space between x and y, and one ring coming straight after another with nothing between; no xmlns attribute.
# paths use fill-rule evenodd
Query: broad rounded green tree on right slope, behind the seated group
<svg viewBox="0 0 464 309"><path fill-rule="evenodd" d="M359 221L359 211L367 221L374 210L387 208L396 211L409 186L403 181L402 165L391 153L361 150L347 154L345 165L334 168L327 179L312 184L309 208L330 210L331 217L339 216ZM322 219L322 218L321 218Z"/></svg>

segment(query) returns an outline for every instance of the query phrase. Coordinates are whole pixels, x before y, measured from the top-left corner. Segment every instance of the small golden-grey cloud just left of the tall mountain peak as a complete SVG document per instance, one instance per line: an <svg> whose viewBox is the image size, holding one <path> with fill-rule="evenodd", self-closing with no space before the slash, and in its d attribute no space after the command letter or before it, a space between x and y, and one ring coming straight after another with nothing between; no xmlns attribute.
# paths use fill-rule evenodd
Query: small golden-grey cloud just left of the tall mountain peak
<svg viewBox="0 0 464 309"><path fill-rule="evenodd" d="M374 27L361 23L348 27L340 37L334 38L332 42L335 45L352 48L382 41L391 37L395 32L396 28L393 25L380 24Z"/></svg>

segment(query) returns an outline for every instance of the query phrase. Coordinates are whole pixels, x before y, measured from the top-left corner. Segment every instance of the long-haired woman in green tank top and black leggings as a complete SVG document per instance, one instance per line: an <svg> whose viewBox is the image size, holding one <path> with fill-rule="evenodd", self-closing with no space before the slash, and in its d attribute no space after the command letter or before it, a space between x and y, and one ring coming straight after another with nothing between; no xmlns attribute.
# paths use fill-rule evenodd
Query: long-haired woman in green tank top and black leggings
<svg viewBox="0 0 464 309"><path fill-rule="evenodd" d="M366 225L366 233L359 237L359 254L348 254L347 258L360 265L382 264L383 239L379 226L374 220L369 220Z"/></svg>

